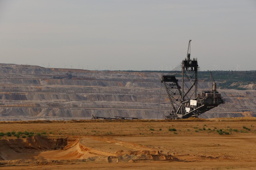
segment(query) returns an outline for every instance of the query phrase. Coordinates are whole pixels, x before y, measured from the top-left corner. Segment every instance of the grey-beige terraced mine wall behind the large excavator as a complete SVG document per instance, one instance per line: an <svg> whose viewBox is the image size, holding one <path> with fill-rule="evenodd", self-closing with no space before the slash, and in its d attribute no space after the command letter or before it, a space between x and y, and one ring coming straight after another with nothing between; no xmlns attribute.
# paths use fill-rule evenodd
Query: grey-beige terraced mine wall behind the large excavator
<svg viewBox="0 0 256 170"><path fill-rule="evenodd" d="M71 71L72 79L65 77ZM164 119L171 103L159 72L89 71L0 64L0 121L138 117ZM198 82L199 91L211 89ZM226 104L200 115L256 117L256 90L218 89Z"/></svg>

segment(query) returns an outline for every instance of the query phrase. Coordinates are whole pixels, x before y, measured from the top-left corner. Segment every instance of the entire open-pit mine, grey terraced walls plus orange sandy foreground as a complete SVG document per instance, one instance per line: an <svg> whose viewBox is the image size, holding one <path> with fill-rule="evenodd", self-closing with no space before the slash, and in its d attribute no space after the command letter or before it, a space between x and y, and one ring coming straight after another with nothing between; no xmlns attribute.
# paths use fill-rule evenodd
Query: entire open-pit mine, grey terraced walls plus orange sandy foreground
<svg viewBox="0 0 256 170"><path fill-rule="evenodd" d="M192 77L195 61L183 60ZM183 72L0 64L0 73L1 169L256 167L255 90L196 77L186 91Z"/></svg>

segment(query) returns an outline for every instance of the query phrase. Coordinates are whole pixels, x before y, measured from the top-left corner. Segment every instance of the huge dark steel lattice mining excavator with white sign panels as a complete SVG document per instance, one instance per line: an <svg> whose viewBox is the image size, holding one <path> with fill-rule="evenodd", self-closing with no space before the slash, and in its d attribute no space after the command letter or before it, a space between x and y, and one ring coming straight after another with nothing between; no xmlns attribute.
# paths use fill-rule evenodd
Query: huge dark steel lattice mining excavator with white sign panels
<svg viewBox="0 0 256 170"><path fill-rule="evenodd" d="M197 58L190 59L190 42L187 51L187 58L182 60L182 82L178 83L173 75L162 76L161 82L164 83L169 100L171 101L172 111L165 119L185 119L198 117L202 113L224 104L221 94L216 91L216 83L211 74L212 90L197 93L197 71L199 66Z"/></svg>

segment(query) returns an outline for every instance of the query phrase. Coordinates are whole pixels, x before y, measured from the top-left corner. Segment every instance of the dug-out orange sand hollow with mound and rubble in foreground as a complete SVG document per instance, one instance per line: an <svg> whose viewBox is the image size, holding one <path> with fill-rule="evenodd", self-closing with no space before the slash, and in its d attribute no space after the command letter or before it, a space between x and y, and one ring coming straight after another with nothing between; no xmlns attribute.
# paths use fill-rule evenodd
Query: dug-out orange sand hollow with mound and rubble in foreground
<svg viewBox="0 0 256 170"><path fill-rule="evenodd" d="M48 139L41 136L33 136L26 139L0 140L0 149L0 159L2 160L2 163L4 160L19 159L31 159L41 162L73 159L96 162L177 160L172 157L172 155L162 155L159 151L153 151L152 149L142 151L118 150L116 152L107 152L89 148L82 145L78 138Z"/></svg>

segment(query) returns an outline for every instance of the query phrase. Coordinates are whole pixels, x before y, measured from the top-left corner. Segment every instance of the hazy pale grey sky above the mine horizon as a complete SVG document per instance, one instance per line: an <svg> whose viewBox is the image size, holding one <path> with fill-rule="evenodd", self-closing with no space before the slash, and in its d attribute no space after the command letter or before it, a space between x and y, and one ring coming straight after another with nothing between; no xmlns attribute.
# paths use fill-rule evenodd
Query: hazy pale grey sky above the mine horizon
<svg viewBox="0 0 256 170"><path fill-rule="evenodd" d="M202 71L256 70L256 1L0 0L0 63L169 71L190 39Z"/></svg>

